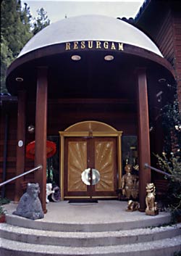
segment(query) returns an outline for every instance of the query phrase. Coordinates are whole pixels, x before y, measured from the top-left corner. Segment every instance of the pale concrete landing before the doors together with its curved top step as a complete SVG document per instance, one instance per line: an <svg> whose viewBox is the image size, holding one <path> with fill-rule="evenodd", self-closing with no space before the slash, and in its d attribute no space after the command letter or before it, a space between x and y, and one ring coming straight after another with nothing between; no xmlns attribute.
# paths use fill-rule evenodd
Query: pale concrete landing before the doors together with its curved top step
<svg viewBox="0 0 181 256"><path fill-rule="evenodd" d="M8 221L11 217L16 218L17 221L25 220L25 218L12 215L16 207L17 205L13 203L5 206ZM33 220L33 222L36 223L36 228L37 224L41 222L43 229L46 228L46 225L47 229L49 229L48 226L51 225L51 230L53 228L52 224L54 224L54 230L56 230L56 227L58 228L59 225L62 225L67 231L71 231L72 225L70 224L74 224L79 230L81 230L81 226L84 230L86 226L89 226L89 228L91 226L90 231L96 231L96 227L100 231L101 226L105 229L106 226L104 224L109 224L109 230L124 230L146 226L158 226L162 223L169 223L170 221L169 212L159 212L159 215L156 216L148 216L145 212L139 212L138 210L135 212L127 212L127 202L117 200L99 200L98 203L69 203L68 201L49 202L46 208L48 211L43 219ZM56 224L58 225L56 226Z"/></svg>

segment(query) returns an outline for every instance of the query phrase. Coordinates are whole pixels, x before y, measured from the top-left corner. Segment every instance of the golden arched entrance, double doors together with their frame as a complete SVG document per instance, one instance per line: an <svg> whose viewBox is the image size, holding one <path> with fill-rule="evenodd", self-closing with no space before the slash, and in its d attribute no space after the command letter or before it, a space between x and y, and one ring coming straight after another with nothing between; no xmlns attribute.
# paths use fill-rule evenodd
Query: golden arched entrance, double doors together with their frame
<svg viewBox="0 0 181 256"><path fill-rule="evenodd" d="M122 131L85 121L59 135L61 199L116 198L122 177Z"/></svg>

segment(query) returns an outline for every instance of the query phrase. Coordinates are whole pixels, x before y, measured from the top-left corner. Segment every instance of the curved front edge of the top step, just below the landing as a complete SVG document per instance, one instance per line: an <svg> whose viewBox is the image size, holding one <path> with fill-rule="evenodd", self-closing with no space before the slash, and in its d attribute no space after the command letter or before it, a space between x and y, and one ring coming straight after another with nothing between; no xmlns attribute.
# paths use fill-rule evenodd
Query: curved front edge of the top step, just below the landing
<svg viewBox="0 0 181 256"><path fill-rule="evenodd" d="M131 215L132 212L129 212ZM133 213L134 214L134 213ZM121 216L121 215L120 215ZM72 222L56 222L54 220L46 220L46 218L41 220L29 220L26 218L22 218L16 215L7 214L6 219L7 223L14 226L20 226L24 228L35 228L45 231L69 231L69 232L100 232L100 231L120 231L120 230L129 230L134 228L146 228L149 226L159 226L165 223L169 223L171 220L171 216L168 212L161 212L159 215L156 216L148 216L148 215L141 215L141 219L130 218L127 220L123 218L117 222L108 222L104 221L101 222L86 222L81 223L75 220L75 223Z"/></svg>

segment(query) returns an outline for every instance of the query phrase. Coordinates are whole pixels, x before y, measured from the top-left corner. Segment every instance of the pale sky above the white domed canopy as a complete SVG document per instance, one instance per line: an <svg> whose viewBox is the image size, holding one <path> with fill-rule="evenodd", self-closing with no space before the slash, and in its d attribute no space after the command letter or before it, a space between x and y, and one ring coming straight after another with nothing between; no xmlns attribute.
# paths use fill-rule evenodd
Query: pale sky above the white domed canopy
<svg viewBox="0 0 181 256"><path fill-rule="evenodd" d="M110 17L135 17L144 0L22 0L22 6L27 3L33 17L37 9L43 7L49 20L56 22L65 17L78 15L106 15Z"/></svg>

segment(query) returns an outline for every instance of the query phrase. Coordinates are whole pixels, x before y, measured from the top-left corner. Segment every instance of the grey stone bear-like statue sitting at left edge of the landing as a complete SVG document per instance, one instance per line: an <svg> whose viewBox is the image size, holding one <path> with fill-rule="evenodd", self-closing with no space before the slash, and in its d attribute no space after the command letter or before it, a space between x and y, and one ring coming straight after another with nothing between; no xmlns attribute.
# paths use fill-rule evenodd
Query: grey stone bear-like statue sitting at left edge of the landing
<svg viewBox="0 0 181 256"><path fill-rule="evenodd" d="M28 183L26 193L22 195L17 210L12 214L31 220L44 218L41 201L38 198L39 193L40 187L38 183Z"/></svg>

